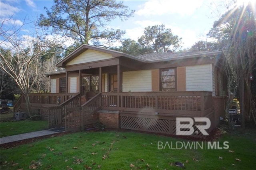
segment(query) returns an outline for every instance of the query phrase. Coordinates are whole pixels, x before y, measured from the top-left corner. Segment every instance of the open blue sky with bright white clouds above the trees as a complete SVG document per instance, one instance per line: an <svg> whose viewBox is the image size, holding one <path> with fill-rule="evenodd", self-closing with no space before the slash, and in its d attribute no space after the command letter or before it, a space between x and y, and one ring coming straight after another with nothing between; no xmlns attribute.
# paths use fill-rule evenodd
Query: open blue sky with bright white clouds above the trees
<svg viewBox="0 0 256 170"><path fill-rule="evenodd" d="M137 41L144 28L164 24L182 38L182 49L199 40L211 41L206 34L225 11L220 0L125 0L124 4L136 11L134 17L124 22L113 20L110 28L125 30L123 38ZM33 20L40 14L46 15L44 7L50 9L52 5L52 0L1 0L0 16L1 19L13 16L15 21L9 22L21 25L24 18Z"/></svg>

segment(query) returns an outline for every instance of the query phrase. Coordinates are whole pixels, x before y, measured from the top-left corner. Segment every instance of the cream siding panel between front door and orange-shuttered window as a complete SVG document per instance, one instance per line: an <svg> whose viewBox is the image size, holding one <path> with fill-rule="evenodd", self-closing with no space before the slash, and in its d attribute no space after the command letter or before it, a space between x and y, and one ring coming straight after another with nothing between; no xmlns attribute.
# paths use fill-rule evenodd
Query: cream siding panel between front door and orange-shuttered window
<svg viewBox="0 0 256 170"><path fill-rule="evenodd" d="M151 70L123 72L123 91L152 91Z"/></svg>

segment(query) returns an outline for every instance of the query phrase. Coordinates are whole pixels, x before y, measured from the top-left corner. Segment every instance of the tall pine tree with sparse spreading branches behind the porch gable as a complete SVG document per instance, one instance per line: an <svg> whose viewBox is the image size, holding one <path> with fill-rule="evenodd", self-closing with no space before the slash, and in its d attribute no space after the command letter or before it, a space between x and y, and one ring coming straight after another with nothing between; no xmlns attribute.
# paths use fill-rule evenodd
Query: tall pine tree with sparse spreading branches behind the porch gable
<svg viewBox="0 0 256 170"><path fill-rule="evenodd" d="M45 9L47 16L40 15L40 26L51 27L53 32L61 30L77 45L119 40L125 32L108 29L107 24L115 18L126 20L134 13L123 2L113 0L55 0L51 10Z"/></svg>

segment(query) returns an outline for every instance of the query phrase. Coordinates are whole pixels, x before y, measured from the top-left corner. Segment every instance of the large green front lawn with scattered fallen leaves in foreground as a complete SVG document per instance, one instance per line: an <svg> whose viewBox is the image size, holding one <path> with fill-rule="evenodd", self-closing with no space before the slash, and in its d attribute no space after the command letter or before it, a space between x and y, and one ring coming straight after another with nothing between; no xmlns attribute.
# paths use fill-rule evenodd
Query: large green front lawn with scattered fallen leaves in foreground
<svg viewBox="0 0 256 170"><path fill-rule="evenodd" d="M158 149L158 141L171 144L187 140L137 132L76 132L15 148L1 149L0 168L17 170L36 166L42 170L82 170L86 167L98 169L100 166L102 170L164 170L180 169L170 164L176 161L185 163L187 160L185 166L188 170L250 170L255 169L255 138L255 132L232 132L218 139L220 146L223 146L224 141L228 141L228 149L207 150L204 146L204 149L186 150L183 147L177 150L168 147ZM223 159L219 159L219 156ZM131 164L134 166L130 167Z"/></svg>

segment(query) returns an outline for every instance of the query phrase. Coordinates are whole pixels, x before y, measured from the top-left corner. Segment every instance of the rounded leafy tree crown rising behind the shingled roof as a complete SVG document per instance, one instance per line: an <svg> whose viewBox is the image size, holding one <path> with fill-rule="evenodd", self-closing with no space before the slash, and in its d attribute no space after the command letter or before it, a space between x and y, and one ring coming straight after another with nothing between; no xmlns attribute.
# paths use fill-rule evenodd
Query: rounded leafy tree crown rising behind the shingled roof
<svg viewBox="0 0 256 170"><path fill-rule="evenodd" d="M176 51L182 38L174 36L170 28L165 28L164 24L158 26L148 26L144 29L144 35L138 39L143 47L149 47L154 52L165 53L168 50Z"/></svg>

